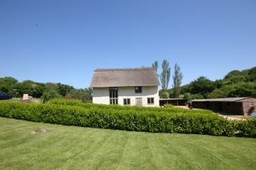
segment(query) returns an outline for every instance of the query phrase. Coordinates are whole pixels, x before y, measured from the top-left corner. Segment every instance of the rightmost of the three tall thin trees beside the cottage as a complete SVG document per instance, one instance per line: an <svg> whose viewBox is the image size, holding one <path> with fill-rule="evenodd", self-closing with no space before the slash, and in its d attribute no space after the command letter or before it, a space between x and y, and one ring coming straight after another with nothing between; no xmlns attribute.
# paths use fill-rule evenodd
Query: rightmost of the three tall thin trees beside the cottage
<svg viewBox="0 0 256 170"><path fill-rule="evenodd" d="M181 93L181 82L183 79L183 75L181 73L181 67L178 66L178 63L174 66L174 75L173 75L173 95L178 98Z"/></svg>

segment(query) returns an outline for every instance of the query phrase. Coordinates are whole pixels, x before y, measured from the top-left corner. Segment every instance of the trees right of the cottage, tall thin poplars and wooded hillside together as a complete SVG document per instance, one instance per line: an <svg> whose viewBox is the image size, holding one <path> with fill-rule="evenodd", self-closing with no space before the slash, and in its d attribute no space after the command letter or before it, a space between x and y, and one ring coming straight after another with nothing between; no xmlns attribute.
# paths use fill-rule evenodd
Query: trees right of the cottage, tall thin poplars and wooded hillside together
<svg viewBox="0 0 256 170"><path fill-rule="evenodd" d="M159 69L158 62L152 66ZM159 90L160 98L226 98L226 97L256 97L256 67L242 71L233 70L223 79L209 80L200 76L197 80L181 86L183 74L181 67L176 63L173 72L173 87L168 88L170 81L170 64L167 60L162 61L162 72L157 74L161 82L162 90Z"/></svg>

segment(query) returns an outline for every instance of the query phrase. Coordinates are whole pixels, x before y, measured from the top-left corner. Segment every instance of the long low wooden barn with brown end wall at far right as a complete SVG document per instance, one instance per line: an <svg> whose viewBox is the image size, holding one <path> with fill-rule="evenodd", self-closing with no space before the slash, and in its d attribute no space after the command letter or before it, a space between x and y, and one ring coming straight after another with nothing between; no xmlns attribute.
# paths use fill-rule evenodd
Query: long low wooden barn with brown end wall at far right
<svg viewBox="0 0 256 170"><path fill-rule="evenodd" d="M211 109L230 115L247 115L256 111L256 98L212 98L191 101L192 107L197 109Z"/></svg>

